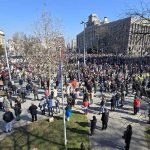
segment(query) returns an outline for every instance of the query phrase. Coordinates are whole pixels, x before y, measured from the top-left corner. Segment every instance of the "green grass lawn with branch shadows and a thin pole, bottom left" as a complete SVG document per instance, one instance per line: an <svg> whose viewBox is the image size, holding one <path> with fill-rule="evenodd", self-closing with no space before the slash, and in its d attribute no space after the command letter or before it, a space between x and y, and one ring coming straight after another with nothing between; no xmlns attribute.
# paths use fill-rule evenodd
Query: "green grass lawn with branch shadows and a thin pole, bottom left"
<svg viewBox="0 0 150 150"><path fill-rule="evenodd" d="M64 147L63 120L54 118L54 122L47 120L31 123L20 127L15 132L0 141L0 150L79 150L81 142L90 148L89 127L85 115L74 112L67 122L68 144Z"/></svg>

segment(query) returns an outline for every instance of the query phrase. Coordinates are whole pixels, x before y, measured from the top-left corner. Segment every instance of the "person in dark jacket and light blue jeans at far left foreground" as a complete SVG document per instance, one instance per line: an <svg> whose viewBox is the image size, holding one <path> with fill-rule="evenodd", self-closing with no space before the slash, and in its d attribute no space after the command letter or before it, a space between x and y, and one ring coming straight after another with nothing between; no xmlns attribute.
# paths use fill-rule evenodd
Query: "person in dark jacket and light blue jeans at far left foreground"
<svg viewBox="0 0 150 150"><path fill-rule="evenodd" d="M5 121L5 132L6 133L12 131L13 119L14 119L13 113L9 109L6 109L6 112L3 115L3 120Z"/></svg>

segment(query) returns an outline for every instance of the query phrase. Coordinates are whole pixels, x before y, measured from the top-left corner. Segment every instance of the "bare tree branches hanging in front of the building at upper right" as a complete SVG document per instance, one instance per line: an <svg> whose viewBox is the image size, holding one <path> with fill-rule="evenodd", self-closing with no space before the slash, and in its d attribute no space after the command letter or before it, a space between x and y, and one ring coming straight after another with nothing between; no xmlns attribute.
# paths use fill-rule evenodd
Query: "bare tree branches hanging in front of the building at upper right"
<svg viewBox="0 0 150 150"><path fill-rule="evenodd" d="M136 45L142 43L141 56L149 55L150 49L150 8L146 3L141 3L140 8L132 8L126 11L126 15L134 18L132 24L140 25L140 28L136 28L130 31L130 36L136 38L135 45L130 51L132 51ZM147 29L145 28L147 27Z"/></svg>

